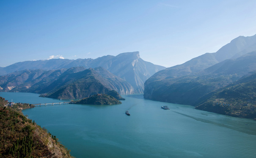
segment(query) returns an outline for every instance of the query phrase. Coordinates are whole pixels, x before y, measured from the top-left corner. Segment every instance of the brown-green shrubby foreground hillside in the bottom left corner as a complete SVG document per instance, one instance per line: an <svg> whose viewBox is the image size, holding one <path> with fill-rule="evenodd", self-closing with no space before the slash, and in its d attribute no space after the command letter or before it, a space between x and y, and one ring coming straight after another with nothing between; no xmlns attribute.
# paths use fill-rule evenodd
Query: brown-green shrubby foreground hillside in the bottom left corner
<svg viewBox="0 0 256 158"><path fill-rule="evenodd" d="M5 99L0 97L0 157L72 157L55 136L52 139L46 129L15 110L17 108L4 107L5 104Z"/></svg>

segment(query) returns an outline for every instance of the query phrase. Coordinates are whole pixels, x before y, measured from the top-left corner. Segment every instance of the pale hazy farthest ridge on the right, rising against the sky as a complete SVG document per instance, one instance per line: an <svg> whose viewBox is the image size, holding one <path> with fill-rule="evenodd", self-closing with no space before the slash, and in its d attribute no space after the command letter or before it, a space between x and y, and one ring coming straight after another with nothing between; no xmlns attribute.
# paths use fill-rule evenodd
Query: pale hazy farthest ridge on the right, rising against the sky
<svg viewBox="0 0 256 158"><path fill-rule="evenodd" d="M256 51L256 35L250 37L239 36L220 48L216 53L206 53L195 57L184 64L168 67L154 74L150 80L177 78L200 72L226 59L236 59L249 52Z"/></svg>

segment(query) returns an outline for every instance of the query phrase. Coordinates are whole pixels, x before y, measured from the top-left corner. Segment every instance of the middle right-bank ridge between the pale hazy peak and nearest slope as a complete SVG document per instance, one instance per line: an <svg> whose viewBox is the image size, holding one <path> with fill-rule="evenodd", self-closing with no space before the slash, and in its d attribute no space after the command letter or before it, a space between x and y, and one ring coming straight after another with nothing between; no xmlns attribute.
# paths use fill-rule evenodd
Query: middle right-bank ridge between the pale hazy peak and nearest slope
<svg viewBox="0 0 256 158"><path fill-rule="evenodd" d="M228 59L204 71L179 78L147 80L144 97L179 104L196 105L204 96L256 70L256 52Z"/></svg>

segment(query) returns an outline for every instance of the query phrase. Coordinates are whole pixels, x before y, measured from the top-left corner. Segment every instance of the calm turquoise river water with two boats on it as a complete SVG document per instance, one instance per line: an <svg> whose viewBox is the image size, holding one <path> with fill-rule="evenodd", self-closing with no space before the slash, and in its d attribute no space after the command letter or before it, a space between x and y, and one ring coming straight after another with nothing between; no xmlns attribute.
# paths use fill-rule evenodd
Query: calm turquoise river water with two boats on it
<svg viewBox="0 0 256 158"><path fill-rule="evenodd" d="M29 93L0 96L32 104L60 102ZM77 158L255 158L256 121L146 100L142 94L123 97L118 105L49 105L23 113Z"/></svg>

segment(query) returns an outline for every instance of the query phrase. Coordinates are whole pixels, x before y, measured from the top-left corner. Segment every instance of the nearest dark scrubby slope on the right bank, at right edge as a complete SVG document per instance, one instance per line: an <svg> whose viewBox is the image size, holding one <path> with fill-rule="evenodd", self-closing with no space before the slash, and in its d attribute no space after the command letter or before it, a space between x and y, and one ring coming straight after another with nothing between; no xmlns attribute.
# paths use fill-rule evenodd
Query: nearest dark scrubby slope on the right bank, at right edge
<svg viewBox="0 0 256 158"><path fill-rule="evenodd" d="M213 91L195 108L256 120L256 73Z"/></svg>

